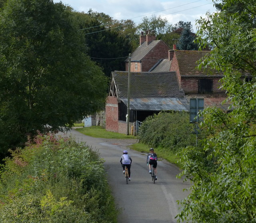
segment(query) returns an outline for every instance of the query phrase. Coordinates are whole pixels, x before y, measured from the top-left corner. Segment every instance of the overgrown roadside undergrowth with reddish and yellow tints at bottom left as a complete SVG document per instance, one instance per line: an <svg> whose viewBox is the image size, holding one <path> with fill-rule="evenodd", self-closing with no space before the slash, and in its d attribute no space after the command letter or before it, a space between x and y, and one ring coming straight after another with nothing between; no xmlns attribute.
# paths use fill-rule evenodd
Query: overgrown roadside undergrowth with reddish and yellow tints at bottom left
<svg viewBox="0 0 256 223"><path fill-rule="evenodd" d="M1 223L116 223L98 153L71 138L39 134L0 172Z"/></svg>

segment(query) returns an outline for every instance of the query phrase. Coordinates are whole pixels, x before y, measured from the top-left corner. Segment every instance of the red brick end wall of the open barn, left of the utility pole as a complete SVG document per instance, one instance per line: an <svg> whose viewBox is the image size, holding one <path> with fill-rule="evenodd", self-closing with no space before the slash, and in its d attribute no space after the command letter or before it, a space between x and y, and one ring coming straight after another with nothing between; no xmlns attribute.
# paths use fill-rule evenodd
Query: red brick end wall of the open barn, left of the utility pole
<svg viewBox="0 0 256 223"><path fill-rule="evenodd" d="M118 132L118 102L112 96L108 96L106 101L106 130Z"/></svg>

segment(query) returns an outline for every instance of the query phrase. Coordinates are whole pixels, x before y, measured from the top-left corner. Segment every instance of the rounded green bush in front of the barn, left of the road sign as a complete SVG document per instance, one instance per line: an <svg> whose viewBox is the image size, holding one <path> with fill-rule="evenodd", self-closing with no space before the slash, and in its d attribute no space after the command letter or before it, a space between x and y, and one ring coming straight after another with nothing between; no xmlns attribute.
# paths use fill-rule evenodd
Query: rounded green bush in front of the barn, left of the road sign
<svg viewBox="0 0 256 223"><path fill-rule="evenodd" d="M140 127L138 138L149 146L176 152L180 148L196 144L193 128L187 112L160 112L146 118Z"/></svg>

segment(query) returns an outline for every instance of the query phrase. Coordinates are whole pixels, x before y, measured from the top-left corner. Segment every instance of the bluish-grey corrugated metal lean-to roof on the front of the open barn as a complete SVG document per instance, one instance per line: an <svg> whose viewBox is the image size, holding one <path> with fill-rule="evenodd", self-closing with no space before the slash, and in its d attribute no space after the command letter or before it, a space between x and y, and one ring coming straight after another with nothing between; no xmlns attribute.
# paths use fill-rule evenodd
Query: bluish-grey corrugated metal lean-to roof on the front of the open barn
<svg viewBox="0 0 256 223"><path fill-rule="evenodd" d="M127 106L127 98L120 98ZM137 111L189 111L189 101L184 98L132 98L130 110Z"/></svg>

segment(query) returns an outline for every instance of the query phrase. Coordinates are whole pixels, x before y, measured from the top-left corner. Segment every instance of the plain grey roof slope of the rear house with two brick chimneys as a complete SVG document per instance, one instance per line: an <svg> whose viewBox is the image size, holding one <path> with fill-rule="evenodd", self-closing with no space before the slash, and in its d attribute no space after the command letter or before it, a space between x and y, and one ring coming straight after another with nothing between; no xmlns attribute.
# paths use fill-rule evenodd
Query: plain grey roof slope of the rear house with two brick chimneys
<svg viewBox="0 0 256 223"><path fill-rule="evenodd" d="M142 43L132 54L131 61L140 61L143 59L160 41L162 40L154 40L150 44L148 42ZM129 58L126 58L126 62L129 61Z"/></svg>

